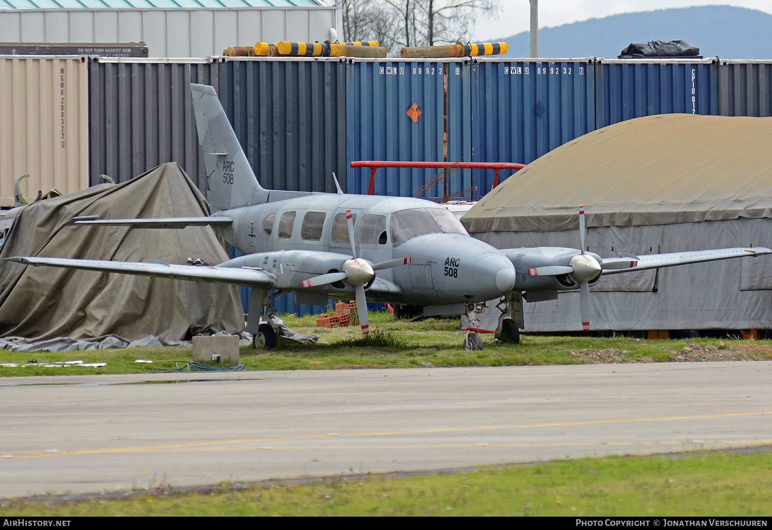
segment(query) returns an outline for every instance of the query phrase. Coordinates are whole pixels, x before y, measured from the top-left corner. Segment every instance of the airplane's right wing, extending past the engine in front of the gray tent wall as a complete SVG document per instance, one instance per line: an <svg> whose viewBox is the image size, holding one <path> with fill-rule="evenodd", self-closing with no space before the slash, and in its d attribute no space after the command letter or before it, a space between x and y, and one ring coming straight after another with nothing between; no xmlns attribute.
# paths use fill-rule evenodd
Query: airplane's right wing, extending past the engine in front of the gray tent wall
<svg viewBox="0 0 772 530"><path fill-rule="evenodd" d="M603 274L640 271L647 268L672 267L687 263L713 262L719 259L740 258L742 256L772 254L772 250L757 248L718 248L716 250L697 250L687 252L670 252L669 254L648 254L640 256L623 256L621 258L603 258L601 268Z"/></svg>

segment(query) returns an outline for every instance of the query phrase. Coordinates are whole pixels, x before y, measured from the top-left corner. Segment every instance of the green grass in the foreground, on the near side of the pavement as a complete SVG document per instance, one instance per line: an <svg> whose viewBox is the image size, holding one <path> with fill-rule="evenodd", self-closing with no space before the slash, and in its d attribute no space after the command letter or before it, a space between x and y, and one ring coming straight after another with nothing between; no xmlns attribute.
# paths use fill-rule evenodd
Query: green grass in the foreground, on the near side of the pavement
<svg viewBox="0 0 772 530"><path fill-rule="evenodd" d="M205 493L159 485L127 499L15 500L0 516L768 516L772 454L605 457L418 476L286 481Z"/></svg>

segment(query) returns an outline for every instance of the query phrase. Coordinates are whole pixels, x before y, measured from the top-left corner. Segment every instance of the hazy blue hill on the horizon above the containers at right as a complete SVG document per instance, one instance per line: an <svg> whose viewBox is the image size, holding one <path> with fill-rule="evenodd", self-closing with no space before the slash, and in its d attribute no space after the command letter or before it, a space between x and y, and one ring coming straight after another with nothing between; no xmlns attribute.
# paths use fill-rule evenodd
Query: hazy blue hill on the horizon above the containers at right
<svg viewBox="0 0 772 530"><path fill-rule="evenodd" d="M772 59L772 15L729 5L624 13L539 30L539 56L615 59L631 42L681 39L704 57ZM507 57L529 55L528 32L503 40Z"/></svg>

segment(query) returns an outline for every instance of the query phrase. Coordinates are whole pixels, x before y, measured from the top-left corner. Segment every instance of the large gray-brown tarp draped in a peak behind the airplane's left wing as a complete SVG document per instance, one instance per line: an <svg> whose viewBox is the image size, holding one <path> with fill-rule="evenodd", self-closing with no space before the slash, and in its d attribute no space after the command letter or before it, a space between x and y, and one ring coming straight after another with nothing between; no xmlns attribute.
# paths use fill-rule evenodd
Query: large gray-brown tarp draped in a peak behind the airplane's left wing
<svg viewBox="0 0 772 530"><path fill-rule="evenodd" d="M178 164L164 164L122 184L102 184L24 208L0 258L45 256L205 264L228 255L208 227L185 230L66 226L78 215L158 218L207 215L201 192ZM28 339L188 339L244 329L235 287L140 276L27 267L0 260L0 336Z"/></svg>

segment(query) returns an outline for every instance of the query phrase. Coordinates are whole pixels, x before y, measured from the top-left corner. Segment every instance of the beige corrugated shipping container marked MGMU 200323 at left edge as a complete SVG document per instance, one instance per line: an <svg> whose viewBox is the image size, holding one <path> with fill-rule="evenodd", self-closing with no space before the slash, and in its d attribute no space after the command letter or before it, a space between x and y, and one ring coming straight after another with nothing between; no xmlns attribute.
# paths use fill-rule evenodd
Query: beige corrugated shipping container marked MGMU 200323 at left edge
<svg viewBox="0 0 772 530"><path fill-rule="evenodd" d="M89 185L88 59L0 56L0 207Z"/></svg>

